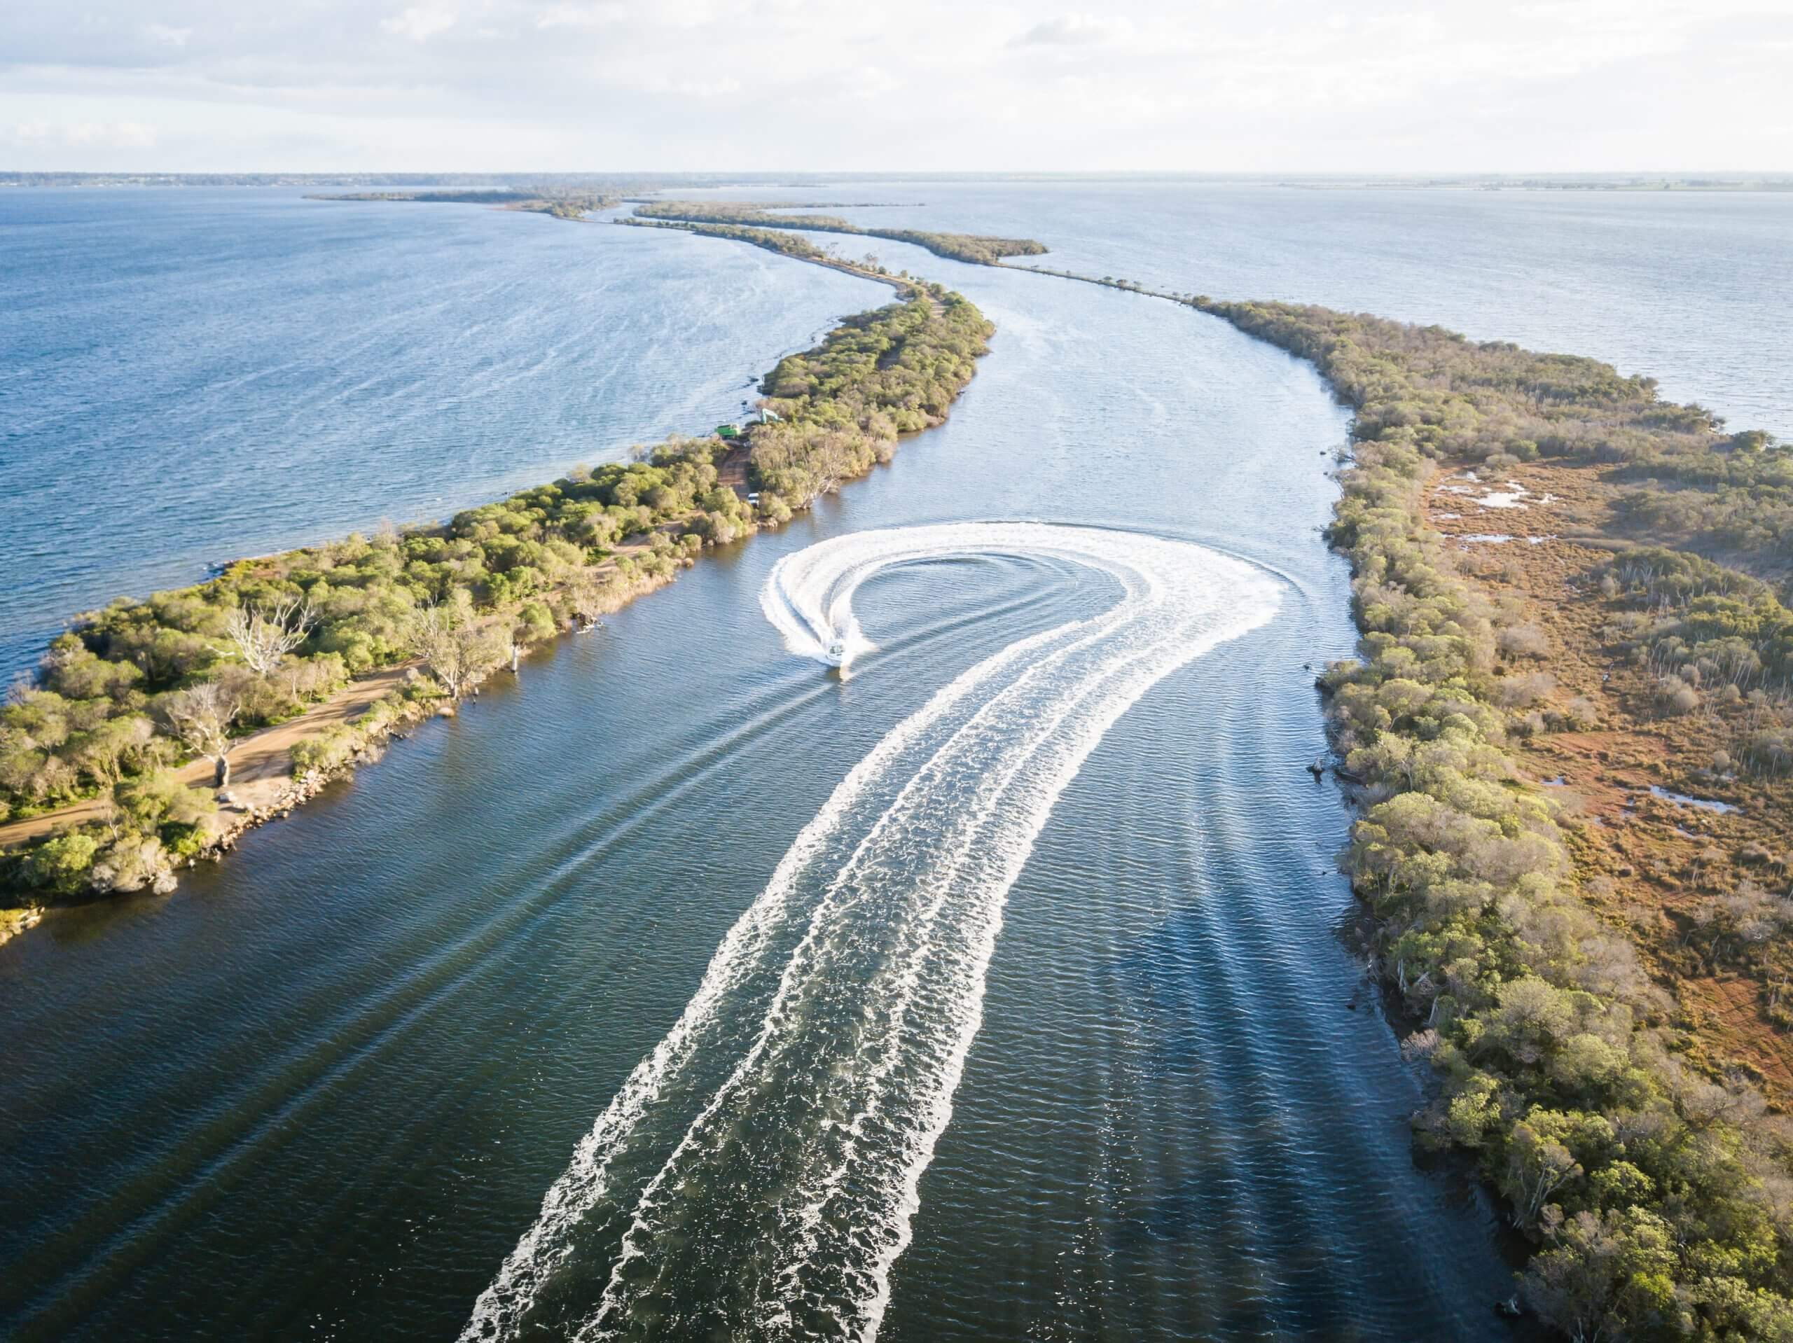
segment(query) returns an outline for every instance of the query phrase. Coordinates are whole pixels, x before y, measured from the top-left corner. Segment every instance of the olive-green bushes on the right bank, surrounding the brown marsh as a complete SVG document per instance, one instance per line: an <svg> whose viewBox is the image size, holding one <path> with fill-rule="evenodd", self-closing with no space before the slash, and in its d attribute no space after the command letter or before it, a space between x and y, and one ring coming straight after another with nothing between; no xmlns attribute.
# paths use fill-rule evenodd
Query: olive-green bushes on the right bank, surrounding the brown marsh
<svg viewBox="0 0 1793 1343"><path fill-rule="evenodd" d="M1673 1002L1578 898L1549 803L1503 749L1538 706L1533 678L1503 671L1522 631L1458 577L1420 509L1440 463L1615 463L1671 482L1637 484L1648 516L1673 509L1687 536L1773 565L1786 533L1739 525L1727 500L1782 506L1786 450L1590 359L1327 308L1196 305L1314 360L1357 412L1332 538L1363 658L1327 674L1329 712L1368 807L1347 868L1386 981L1424 1022L1409 1047L1443 1076L1422 1131L1477 1155L1538 1244L1528 1300L1565 1334L1793 1339L1793 1139L1746 1081L1682 1061ZM1617 556L1601 592L1648 613L1641 638L1673 640L1666 667L1741 660L1755 721L1780 724L1757 764L1788 767L1793 617L1764 583L1646 549ZM1578 712L1546 706L1558 726ZM1793 902L1766 904L1793 920Z"/></svg>

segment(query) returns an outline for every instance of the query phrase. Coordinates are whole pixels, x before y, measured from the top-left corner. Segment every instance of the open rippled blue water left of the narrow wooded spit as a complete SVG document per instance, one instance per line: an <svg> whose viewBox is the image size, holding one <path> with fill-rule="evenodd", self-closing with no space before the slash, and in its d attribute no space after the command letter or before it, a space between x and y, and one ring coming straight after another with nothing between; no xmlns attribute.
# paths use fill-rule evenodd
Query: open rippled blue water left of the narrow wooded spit
<svg viewBox="0 0 1793 1343"><path fill-rule="evenodd" d="M477 206L5 192L0 672L113 595L706 432L870 292L687 251Z"/></svg>

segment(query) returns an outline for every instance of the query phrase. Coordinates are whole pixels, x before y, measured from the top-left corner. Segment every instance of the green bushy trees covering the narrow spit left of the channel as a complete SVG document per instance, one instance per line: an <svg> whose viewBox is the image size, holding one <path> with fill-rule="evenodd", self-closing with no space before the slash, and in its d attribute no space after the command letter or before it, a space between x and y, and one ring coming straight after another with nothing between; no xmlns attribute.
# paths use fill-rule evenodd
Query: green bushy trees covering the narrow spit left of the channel
<svg viewBox="0 0 1793 1343"><path fill-rule="evenodd" d="M945 418L992 326L914 283L766 378L776 416L741 438L676 438L637 461L525 490L443 525L242 559L217 577L82 615L0 708L0 821L108 798L99 821L0 853L0 888L36 900L133 891L210 843L210 789L170 766L289 719L355 674L429 672L366 721L294 748L330 769L416 701L457 696L534 644L667 581L705 545L778 524ZM746 443L748 504L717 464Z"/></svg>

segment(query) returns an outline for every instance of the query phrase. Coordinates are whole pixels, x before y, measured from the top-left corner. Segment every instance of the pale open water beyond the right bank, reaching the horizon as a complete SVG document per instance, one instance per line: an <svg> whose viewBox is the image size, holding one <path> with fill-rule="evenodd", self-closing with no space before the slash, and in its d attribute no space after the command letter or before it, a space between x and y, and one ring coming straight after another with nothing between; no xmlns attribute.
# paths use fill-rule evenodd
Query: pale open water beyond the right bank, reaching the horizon
<svg viewBox="0 0 1793 1343"><path fill-rule="evenodd" d="M1712 407L1734 429L1793 438L1788 192L853 186L868 199L925 203L834 212L861 224L1038 237L1052 249L1040 260L1054 269L1216 298L1320 303L1592 355L1657 378L1669 400ZM839 194L780 188L778 199Z"/></svg>

